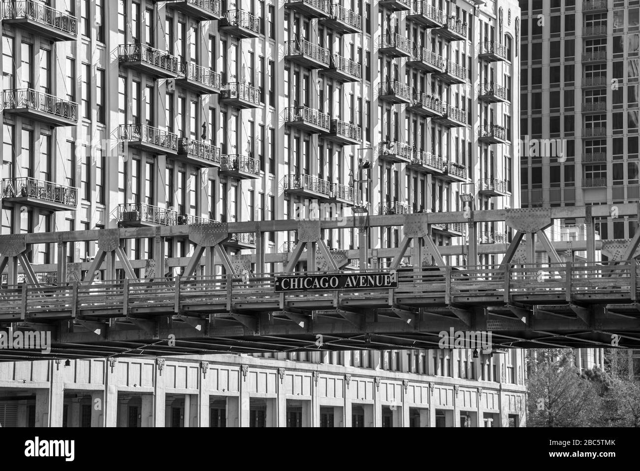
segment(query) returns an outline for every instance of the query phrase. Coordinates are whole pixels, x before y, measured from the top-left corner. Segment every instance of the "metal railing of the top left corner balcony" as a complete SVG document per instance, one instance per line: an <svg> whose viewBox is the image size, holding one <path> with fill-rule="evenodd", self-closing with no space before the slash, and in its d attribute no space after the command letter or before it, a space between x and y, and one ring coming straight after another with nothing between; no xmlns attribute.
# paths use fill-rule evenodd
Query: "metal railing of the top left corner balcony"
<svg viewBox="0 0 640 471"><path fill-rule="evenodd" d="M43 26L57 29L67 35L77 36L78 20L36 0L6 0L1 4L3 20L27 19Z"/></svg>

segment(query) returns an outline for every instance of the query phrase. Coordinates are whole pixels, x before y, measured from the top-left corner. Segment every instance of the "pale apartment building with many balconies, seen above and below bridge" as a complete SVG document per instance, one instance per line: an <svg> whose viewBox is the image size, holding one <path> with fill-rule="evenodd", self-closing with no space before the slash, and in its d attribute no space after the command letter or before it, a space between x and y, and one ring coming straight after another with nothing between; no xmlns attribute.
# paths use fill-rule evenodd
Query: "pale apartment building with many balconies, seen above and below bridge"
<svg viewBox="0 0 640 471"><path fill-rule="evenodd" d="M25 0L4 2L2 18L0 234L282 220L308 216L312 205L323 218L354 211L456 211L464 207L461 195L470 195L476 209L519 205L520 123L513 90L520 89L521 20L513 0ZM510 240L500 223L485 223L479 231L481 241ZM337 250L361 243L395 247L402 236L396 227L362 236L357 229L324 234ZM249 232L234 234L225 246L232 257L257 247L280 253L292 249L295 237ZM432 237L440 245L467 243L464 225L433 227ZM66 281L56 279L59 264L83 275L96 251L94 243L34 244L28 257L41 283L56 283ZM125 253L136 276L149 275L149 260L156 269L164 267L161 275L179 275L193 246L179 237L132 239ZM449 258L451 264L499 261L493 255ZM387 262L371 260L372 266ZM298 269L306 268L300 262ZM257 262L252 269L274 273L282 262ZM208 251L196 267L198 275L223 272ZM104 266L97 276L121 278L125 270ZM21 267L8 266L3 282L24 282ZM312 378L314 397L320 394L319 378L323 384L335 375L366 378L363 397L343 391L324 401L341 408L335 414L342 421L335 423L524 424L519 350L477 358L469 351L437 349L245 358L166 361L175 371L195 365L205 376L209 362L227 365L216 371L226 371L236 389L214 394L205 383L198 387L216 397L216 420L225 410L236 425L333 423L328 415L321 419L317 403L310 409L310 390L303 388L304 400L289 404L292 397L269 389L273 381L290 381L285 370L299 371L305 385ZM98 360L83 361L70 367L92 371ZM148 378L157 379L165 363L140 368L148 365L154 370ZM172 424L191 413L196 424L214 421L213 412L203 412L206 404L195 406L196 399L182 397L204 397L184 392L193 385L167 390L177 395L178 405L166 399L166 410L151 411L148 391L137 394L118 376L118 365L104 360L97 368L105 378L115 375L109 384L120 392L101 419L91 411L83 415L82 401L106 391L104 384L71 401L54 391L65 368L38 363L36 370L57 379L51 379L48 396L36 391L33 404L20 406L27 411L24 423L45 424L40 408L47 400L58 411L49 424ZM254 391L251 412L243 409L250 393L238 385L257 371L268 379L256 379L264 390ZM15 369L4 374L16 384L24 379ZM394 378L394 388L401 385L397 394L407 392L412 381L429 394L442 385L441 411L428 399L431 405L421 408L418 396L399 406L396 392L380 399L381 376ZM375 393L370 385L376 385ZM348 380L339 383L348 387ZM458 388L464 387L476 392L473 404L463 403L467 395ZM126 411L129 401L139 413ZM394 413L385 415L383 408Z"/></svg>

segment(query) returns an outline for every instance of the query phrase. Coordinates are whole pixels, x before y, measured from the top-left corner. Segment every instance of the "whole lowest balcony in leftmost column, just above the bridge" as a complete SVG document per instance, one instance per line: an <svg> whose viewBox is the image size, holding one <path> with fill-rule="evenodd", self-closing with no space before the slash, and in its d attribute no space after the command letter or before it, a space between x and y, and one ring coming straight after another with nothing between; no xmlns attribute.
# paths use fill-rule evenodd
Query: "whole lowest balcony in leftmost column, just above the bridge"
<svg viewBox="0 0 640 471"><path fill-rule="evenodd" d="M78 189L31 177L2 180L2 198L6 203L37 206L50 211L76 211Z"/></svg>

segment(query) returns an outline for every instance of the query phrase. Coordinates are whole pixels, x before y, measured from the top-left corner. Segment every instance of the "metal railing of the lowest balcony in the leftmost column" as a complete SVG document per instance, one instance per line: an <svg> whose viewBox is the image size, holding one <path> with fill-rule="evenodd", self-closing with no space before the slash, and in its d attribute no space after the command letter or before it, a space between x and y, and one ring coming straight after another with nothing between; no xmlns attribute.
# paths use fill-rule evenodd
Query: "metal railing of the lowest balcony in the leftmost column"
<svg viewBox="0 0 640 471"><path fill-rule="evenodd" d="M3 198L33 198L42 202L76 206L77 196L77 188L46 180L31 177L2 180Z"/></svg>

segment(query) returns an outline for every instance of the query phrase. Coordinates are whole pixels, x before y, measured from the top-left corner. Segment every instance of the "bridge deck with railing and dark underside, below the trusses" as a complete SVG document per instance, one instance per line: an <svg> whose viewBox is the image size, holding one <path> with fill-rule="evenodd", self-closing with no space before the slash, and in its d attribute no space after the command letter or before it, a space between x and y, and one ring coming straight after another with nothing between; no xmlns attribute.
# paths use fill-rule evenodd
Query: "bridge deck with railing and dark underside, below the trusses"
<svg viewBox="0 0 640 471"><path fill-rule="evenodd" d="M0 324L51 330L67 357L147 344L152 355L291 351L316 347L318 334L335 349L433 348L449 328L492 331L502 346L610 346L614 333L638 346L637 291L635 261L400 269L389 289L275 292L273 276L23 284L0 290Z"/></svg>

